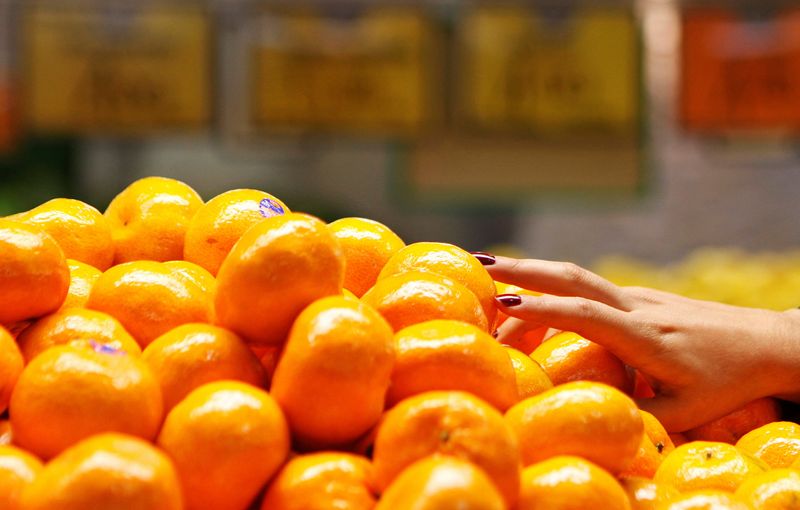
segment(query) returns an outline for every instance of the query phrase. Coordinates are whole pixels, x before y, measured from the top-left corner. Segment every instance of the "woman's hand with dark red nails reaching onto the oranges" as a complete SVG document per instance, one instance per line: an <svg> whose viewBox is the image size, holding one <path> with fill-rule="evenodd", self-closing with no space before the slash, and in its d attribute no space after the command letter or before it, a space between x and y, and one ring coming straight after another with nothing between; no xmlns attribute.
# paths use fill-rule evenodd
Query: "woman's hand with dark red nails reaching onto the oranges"
<svg viewBox="0 0 800 510"><path fill-rule="evenodd" d="M605 346L642 372L656 396L637 403L671 432L759 397L800 394L800 311L618 287L570 263L476 256L495 280L545 294L498 296L512 317L498 330L500 341L546 325Z"/></svg>

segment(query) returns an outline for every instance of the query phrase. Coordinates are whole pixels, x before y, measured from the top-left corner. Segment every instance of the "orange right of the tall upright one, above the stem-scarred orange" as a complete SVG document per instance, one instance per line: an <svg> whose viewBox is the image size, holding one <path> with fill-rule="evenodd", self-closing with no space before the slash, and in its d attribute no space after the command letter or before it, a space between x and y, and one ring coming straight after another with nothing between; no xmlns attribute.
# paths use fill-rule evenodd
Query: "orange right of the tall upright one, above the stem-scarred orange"
<svg viewBox="0 0 800 510"><path fill-rule="evenodd" d="M501 411L518 400L514 365L506 350L486 331L454 320L408 326L394 336L390 405L433 390L460 390Z"/></svg>

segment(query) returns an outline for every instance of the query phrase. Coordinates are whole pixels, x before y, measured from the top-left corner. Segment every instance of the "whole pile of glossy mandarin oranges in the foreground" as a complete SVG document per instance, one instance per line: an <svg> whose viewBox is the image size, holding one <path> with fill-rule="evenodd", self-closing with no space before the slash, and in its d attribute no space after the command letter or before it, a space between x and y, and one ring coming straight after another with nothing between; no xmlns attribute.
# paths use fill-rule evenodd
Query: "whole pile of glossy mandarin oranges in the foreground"
<svg viewBox="0 0 800 510"><path fill-rule="evenodd" d="M252 189L0 218L0 508L800 508L776 401L669 433L591 339L493 338L534 291Z"/></svg>

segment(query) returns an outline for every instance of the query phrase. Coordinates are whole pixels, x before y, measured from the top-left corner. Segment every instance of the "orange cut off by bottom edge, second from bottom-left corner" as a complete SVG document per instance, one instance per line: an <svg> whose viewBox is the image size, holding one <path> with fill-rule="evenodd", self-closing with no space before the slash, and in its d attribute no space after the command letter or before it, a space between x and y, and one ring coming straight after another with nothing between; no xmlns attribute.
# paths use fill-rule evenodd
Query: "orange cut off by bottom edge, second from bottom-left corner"
<svg viewBox="0 0 800 510"><path fill-rule="evenodd" d="M175 468L150 443L100 434L50 461L22 493L25 510L181 510Z"/></svg>

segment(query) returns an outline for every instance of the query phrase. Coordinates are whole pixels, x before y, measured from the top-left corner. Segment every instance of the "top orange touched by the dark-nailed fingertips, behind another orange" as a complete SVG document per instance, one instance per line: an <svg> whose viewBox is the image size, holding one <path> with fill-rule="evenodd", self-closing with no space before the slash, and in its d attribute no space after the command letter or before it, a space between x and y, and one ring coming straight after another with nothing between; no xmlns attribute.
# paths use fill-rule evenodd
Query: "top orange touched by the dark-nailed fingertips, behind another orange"
<svg viewBox="0 0 800 510"><path fill-rule="evenodd" d="M447 243L413 243L402 248L383 266L378 279L409 271L440 274L468 288L486 314L487 328L494 324L497 290L486 268L472 254Z"/></svg>

